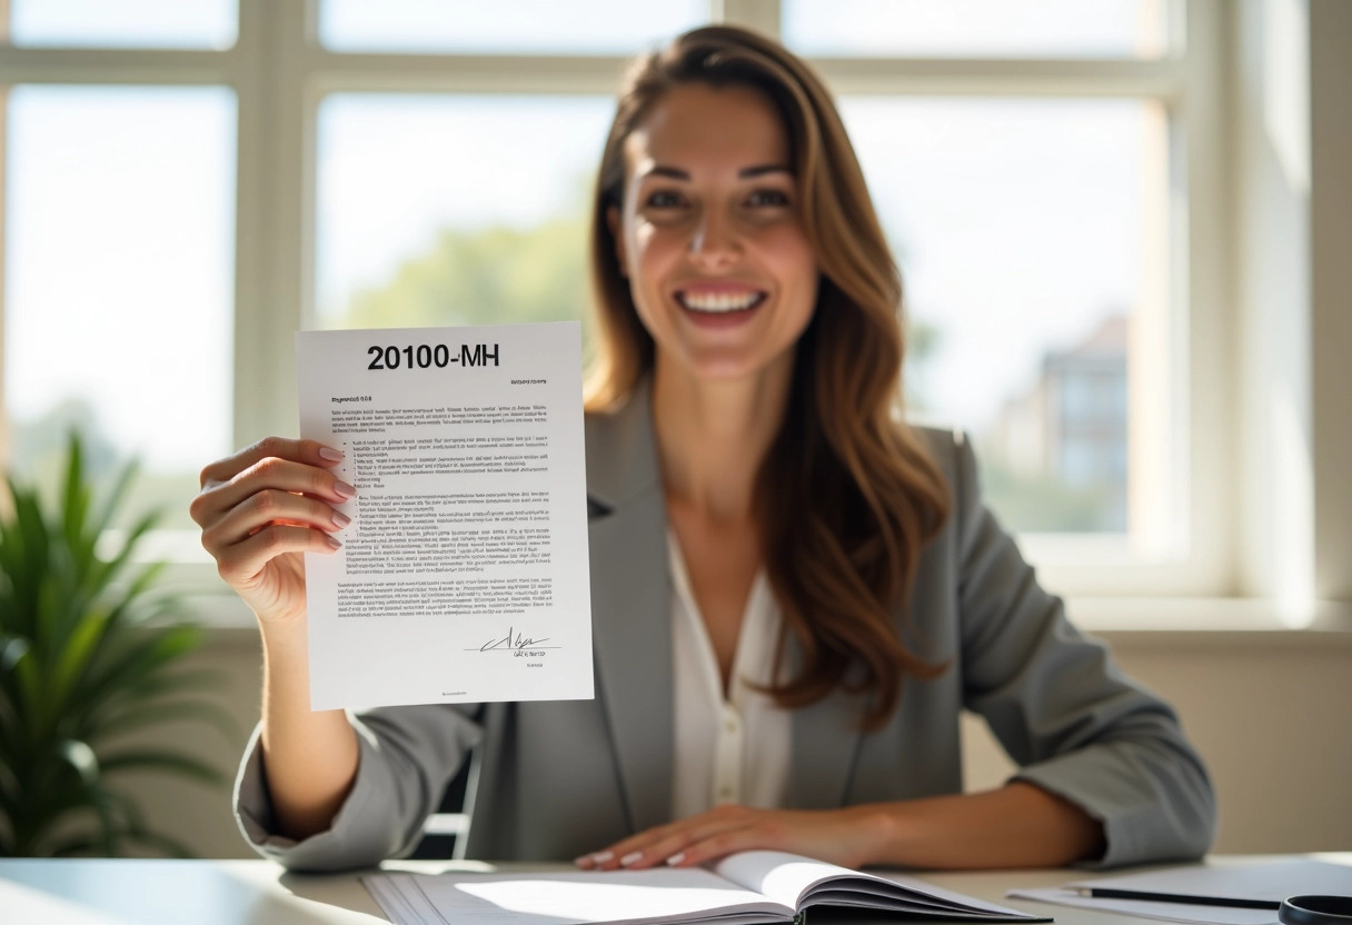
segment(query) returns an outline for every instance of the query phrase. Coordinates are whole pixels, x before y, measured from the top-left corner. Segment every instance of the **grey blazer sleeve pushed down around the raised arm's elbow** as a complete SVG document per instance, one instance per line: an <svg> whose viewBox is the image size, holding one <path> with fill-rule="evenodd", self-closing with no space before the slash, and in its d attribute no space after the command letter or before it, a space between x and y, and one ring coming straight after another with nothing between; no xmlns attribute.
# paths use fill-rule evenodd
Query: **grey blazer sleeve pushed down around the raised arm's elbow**
<svg viewBox="0 0 1352 925"><path fill-rule="evenodd" d="M418 845L446 786L483 738L477 706L403 706L349 714L357 778L331 826L296 841L277 834L260 728L235 779L235 822L250 847L293 871L372 867Z"/></svg>

